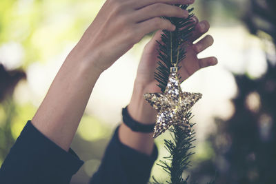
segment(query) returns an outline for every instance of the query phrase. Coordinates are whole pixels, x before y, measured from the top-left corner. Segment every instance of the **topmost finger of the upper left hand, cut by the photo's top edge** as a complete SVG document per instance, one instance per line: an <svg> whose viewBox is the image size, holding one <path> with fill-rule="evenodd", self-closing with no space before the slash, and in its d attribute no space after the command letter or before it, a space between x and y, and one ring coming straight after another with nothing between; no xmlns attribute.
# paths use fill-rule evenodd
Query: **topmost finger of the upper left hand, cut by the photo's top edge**
<svg viewBox="0 0 276 184"><path fill-rule="evenodd" d="M171 0L171 1L168 1L168 0L151 0L151 1L140 0L140 1L137 1L137 0L135 0L135 2L132 2L132 5L133 5L133 8L135 8L137 10L139 8L143 8L145 6L149 6L149 5L152 5L155 3L167 3L167 4L172 4L172 5L173 4L186 5L186 4L192 4L194 2L195 2L195 0Z"/></svg>

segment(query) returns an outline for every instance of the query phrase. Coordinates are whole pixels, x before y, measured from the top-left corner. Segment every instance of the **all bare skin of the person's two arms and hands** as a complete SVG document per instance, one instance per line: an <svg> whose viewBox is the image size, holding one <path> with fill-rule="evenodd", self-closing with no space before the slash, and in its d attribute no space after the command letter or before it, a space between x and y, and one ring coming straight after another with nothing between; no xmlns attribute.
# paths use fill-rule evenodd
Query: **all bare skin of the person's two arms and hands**
<svg viewBox="0 0 276 184"><path fill-rule="evenodd" d="M175 25L159 17L185 18L188 17L188 12L172 4L193 2L194 0L107 0L63 62L45 99L34 114L32 124L48 139L68 151L100 74L145 34L155 30L175 30ZM194 39L208 30L209 25L206 21L205 23L204 29L199 28L200 23L196 25ZM158 91L153 78L157 61L155 39L160 39L160 32L155 34L144 49L128 106L130 116L141 123L155 122L155 110L143 99L144 92ZM215 58L197 59L197 53L208 48L211 43L213 39L208 37L189 46L188 57L182 63L184 69L180 71L184 78L202 67L217 63ZM201 49L197 50L197 47ZM139 152L152 153L152 134L132 132L123 123L119 128L119 139Z"/></svg>

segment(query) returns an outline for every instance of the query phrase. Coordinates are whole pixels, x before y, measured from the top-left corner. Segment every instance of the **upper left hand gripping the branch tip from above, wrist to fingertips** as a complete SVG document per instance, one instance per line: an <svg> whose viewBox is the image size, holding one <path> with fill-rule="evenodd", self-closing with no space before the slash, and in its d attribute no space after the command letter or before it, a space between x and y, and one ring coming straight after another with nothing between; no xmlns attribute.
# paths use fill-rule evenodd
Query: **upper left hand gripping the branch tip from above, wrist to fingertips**
<svg viewBox="0 0 276 184"><path fill-rule="evenodd" d="M160 17L188 17L187 10L172 5L194 1L107 0L68 59L92 63L102 72L145 34L155 30L175 30L175 25Z"/></svg>

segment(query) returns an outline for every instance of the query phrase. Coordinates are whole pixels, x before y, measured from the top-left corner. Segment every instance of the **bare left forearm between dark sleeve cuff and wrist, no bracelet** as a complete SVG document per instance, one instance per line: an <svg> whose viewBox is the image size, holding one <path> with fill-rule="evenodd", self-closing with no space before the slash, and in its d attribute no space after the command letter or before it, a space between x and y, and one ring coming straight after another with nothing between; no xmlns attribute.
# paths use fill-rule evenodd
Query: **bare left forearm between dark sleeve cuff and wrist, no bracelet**
<svg viewBox="0 0 276 184"><path fill-rule="evenodd" d="M100 74L92 62L66 59L32 118L33 125L63 150L70 147Z"/></svg>

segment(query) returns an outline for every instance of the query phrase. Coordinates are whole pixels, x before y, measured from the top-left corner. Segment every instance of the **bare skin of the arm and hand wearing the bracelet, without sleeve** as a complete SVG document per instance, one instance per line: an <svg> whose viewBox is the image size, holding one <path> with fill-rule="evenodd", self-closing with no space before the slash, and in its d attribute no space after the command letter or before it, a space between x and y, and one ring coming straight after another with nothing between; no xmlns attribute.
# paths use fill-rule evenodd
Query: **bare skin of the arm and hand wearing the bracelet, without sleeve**
<svg viewBox="0 0 276 184"><path fill-rule="evenodd" d="M203 34L205 34L210 25L208 21L201 21L198 23L197 17L195 18L195 31L191 39L191 44L187 47L186 59L181 61L180 65L183 67L179 70L183 79L187 79L194 72L200 68L205 68L210 65L217 64L215 57L209 57L204 59L198 59L197 54L208 48L213 44L213 38L207 35L203 39L200 39L197 43L193 42ZM135 85L132 92L132 98L128 105L128 112L132 119L140 123L150 124L156 121L157 112L149 103L144 100L144 93L146 92L160 92L157 82L155 81L154 72L157 65L157 41L161 41L160 31L155 34L154 37L144 48L144 52L141 57L141 61L138 66L137 76L135 79ZM138 152L144 154L152 154L154 145L154 139L152 133L145 134L139 132L132 132L129 127L124 123L119 128L119 139L121 143L132 147Z"/></svg>

